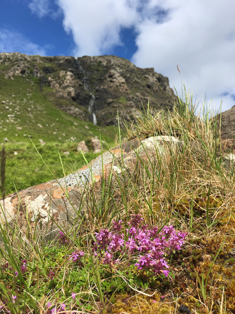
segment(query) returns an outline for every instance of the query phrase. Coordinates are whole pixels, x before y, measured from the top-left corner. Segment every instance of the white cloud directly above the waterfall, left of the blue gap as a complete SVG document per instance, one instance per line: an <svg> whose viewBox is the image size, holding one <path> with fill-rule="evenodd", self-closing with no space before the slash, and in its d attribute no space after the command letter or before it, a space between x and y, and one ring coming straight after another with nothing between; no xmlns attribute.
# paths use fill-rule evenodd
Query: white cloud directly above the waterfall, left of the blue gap
<svg viewBox="0 0 235 314"><path fill-rule="evenodd" d="M139 19L141 0L58 0L64 28L72 32L76 56L100 55L121 45L120 30Z"/></svg>

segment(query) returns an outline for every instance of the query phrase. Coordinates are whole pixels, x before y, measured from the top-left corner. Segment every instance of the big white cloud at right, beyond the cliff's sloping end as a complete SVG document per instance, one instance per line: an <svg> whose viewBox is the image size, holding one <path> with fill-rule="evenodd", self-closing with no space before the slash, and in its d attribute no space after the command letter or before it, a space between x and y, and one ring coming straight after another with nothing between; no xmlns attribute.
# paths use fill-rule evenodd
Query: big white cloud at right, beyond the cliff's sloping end
<svg viewBox="0 0 235 314"><path fill-rule="evenodd" d="M159 5L161 1L151 1ZM235 105L235 24L234 1L213 0L161 3L169 10L169 19L162 24L145 19L136 25L138 50L132 61L140 67L154 67L170 79L170 85L181 94L181 80L197 98L207 95L222 111ZM224 93L226 96L222 96ZM212 100L213 102L213 100Z"/></svg>

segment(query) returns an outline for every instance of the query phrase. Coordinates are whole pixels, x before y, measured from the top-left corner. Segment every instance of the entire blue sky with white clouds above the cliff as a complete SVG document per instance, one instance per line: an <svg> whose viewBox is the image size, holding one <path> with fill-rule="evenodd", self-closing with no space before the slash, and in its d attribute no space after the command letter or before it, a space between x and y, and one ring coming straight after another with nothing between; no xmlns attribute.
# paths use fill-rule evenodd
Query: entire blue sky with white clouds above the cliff
<svg viewBox="0 0 235 314"><path fill-rule="evenodd" d="M0 52L116 55L235 105L234 0L1 0Z"/></svg>

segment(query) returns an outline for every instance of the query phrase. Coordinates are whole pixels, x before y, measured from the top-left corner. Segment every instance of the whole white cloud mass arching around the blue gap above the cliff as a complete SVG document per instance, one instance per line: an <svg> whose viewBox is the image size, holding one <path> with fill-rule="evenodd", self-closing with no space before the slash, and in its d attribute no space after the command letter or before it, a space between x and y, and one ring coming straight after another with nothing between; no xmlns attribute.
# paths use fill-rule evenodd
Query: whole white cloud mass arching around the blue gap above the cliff
<svg viewBox="0 0 235 314"><path fill-rule="evenodd" d="M36 1L36 0L34 0ZM222 110L235 104L234 0L58 0L76 56L112 53L120 31L133 27L138 47L132 61L154 67L181 93L181 80L199 98L214 97ZM222 94L227 93L226 96Z"/></svg>

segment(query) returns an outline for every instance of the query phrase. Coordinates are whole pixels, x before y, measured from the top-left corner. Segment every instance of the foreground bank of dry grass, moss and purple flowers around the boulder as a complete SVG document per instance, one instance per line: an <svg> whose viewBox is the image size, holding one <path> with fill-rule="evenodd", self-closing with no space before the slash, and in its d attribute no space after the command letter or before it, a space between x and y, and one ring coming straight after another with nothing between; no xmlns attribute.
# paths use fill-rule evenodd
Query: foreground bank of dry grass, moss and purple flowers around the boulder
<svg viewBox="0 0 235 314"><path fill-rule="evenodd" d="M198 114L185 91L172 112L149 106L127 124L126 139L174 136L181 145L89 193L73 230L44 243L0 225L0 311L234 313L234 166L202 105Z"/></svg>

